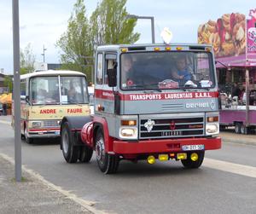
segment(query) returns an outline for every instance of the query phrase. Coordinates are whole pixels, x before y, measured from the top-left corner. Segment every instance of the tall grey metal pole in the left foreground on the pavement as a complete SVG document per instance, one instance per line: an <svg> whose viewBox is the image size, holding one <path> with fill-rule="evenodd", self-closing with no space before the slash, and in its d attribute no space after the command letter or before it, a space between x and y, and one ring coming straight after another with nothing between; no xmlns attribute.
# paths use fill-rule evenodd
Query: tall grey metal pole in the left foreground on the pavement
<svg viewBox="0 0 256 214"><path fill-rule="evenodd" d="M15 180L21 182L20 140L20 21L19 0L13 0L13 55L14 55L14 105L15 105Z"/></svg>

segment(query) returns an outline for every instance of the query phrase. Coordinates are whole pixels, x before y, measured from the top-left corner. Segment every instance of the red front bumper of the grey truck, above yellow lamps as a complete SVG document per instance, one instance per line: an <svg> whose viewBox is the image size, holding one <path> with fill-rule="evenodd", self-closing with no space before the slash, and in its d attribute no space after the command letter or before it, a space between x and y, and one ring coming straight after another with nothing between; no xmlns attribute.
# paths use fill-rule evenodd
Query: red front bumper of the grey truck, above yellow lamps
<svg viewBox="0 0 256 214"><path fill-rule="evenodd" d="M175 153L181 152L184 145L204 145L205 150L221 148L220 137L214 138L183 138L148 140L138 142L113 141L113 153L143 154L143 153ZM186 151L187 152L187 151Z"/></svg>

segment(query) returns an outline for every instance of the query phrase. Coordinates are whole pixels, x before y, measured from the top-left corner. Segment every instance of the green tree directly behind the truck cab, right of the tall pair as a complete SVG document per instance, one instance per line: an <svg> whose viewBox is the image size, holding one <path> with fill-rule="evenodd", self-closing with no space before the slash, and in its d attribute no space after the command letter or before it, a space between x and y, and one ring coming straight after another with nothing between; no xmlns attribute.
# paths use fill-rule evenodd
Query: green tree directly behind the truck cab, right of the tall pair
<svg viewBox="0 0 256 214"><path fill-rule="evenodd" d="M127 0L103 0L90 16L94 43L135 43L140 37L134 33L137 20L127 19Z"/></svg>

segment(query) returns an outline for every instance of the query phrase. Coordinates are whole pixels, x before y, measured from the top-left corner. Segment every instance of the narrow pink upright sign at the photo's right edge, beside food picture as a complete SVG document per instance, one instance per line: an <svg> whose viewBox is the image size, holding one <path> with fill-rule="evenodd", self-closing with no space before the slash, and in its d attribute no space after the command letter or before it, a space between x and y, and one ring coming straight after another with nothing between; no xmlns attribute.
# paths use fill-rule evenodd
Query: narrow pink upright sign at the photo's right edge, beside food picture
<svg viewBox="0 0 256 214"><path fill-rule="evenodd" d="M256 53L256 9L251 9L247 20L247 54Z"/></svg>

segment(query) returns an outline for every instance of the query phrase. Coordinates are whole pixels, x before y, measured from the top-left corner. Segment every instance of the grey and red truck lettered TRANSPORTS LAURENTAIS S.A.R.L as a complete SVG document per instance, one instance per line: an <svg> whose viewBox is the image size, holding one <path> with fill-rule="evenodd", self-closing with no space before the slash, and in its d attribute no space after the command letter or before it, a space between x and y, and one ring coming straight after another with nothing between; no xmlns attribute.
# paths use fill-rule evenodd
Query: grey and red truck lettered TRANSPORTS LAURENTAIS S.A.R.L
<svg viewBox="0 0 256 214"><path fill-rule="evenodd" d="M177 71L181 57L189 77ZM125 59L132 64L129 77ZM206 150L221 147L211 46L99 46L95 71L94 115L61 121L67 163L89 162L96 151L105 174L115 173L122 159L175 159L198 168Z"/></svg>

